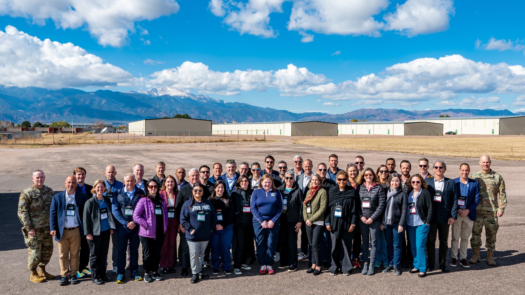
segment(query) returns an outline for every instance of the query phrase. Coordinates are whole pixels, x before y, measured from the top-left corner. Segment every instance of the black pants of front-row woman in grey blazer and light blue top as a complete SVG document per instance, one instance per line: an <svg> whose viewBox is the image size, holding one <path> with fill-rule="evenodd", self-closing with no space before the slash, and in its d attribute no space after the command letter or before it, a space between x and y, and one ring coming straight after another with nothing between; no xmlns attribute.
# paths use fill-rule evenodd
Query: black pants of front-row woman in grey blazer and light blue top
<svg viewBox="0 0 525 295"><path fill-rule="evenodd" d="M86 239L86 243L89 246L89 254L91 255L89 257L89 267L91 268L92 280L106 277L110 239L109 229L101 231L98 236L93 236L92 240Z"/></svg>

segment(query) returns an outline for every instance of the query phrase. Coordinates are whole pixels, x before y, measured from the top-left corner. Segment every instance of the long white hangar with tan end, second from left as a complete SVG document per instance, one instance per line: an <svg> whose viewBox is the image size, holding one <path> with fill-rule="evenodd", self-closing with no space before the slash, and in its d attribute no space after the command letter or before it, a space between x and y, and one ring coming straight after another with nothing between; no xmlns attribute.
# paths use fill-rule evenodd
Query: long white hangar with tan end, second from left
<svg viewBox="0 0 525 295"><path fill-rule="evenodd" d="M337 123L320 121L220 123L212 124L214 134L253 134L284 136L337 136Z"/></svg>

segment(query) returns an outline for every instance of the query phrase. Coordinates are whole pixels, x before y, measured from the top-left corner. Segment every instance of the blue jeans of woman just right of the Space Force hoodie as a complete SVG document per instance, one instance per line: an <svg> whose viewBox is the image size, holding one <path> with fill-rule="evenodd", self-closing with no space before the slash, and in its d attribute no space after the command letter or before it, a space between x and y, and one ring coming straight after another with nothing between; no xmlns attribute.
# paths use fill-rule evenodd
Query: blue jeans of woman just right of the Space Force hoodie
<svg viewBox="0 0 525 295"><path fill-rule="evenodd" d="M209 238L211 245L211 258L213 269L219 268L219 256L222 258L223 270L229 270L232 267L232 249L233 225L228 225L222 230L215 230Z"/></svg>

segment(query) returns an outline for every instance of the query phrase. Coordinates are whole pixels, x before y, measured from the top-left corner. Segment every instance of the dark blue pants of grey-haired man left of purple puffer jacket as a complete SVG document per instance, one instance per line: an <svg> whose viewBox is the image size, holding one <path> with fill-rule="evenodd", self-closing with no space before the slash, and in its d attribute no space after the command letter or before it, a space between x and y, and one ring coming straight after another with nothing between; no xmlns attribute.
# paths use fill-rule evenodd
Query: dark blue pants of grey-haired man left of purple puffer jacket
<svg viewBox="0 0 525 295"><path fill-rule="evenodd" d="M126 229L123 225L117 225L117 237L119 240L119 254L117 255L117 274L124 275L126 267L126 252L128 243L130 246L130 272L139 269L139 227Z"/></svg>

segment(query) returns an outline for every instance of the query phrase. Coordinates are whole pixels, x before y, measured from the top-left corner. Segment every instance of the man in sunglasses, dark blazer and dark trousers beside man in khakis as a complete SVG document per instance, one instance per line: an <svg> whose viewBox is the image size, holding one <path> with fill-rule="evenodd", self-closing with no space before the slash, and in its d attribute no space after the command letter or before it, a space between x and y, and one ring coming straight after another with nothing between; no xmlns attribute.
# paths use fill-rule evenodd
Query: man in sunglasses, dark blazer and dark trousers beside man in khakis
<svg viewBox="0 0 525 295"><path fill-rule="evenodd" d="M444 176L447 165L443 160L434 162L434 177L426 178L427 190L433 198L432 220L427 237L427 270L433 270L436 263L436 236L439 238L439 268L448 272L446 266L448 232L458 215L456 183Z"/></svg>

